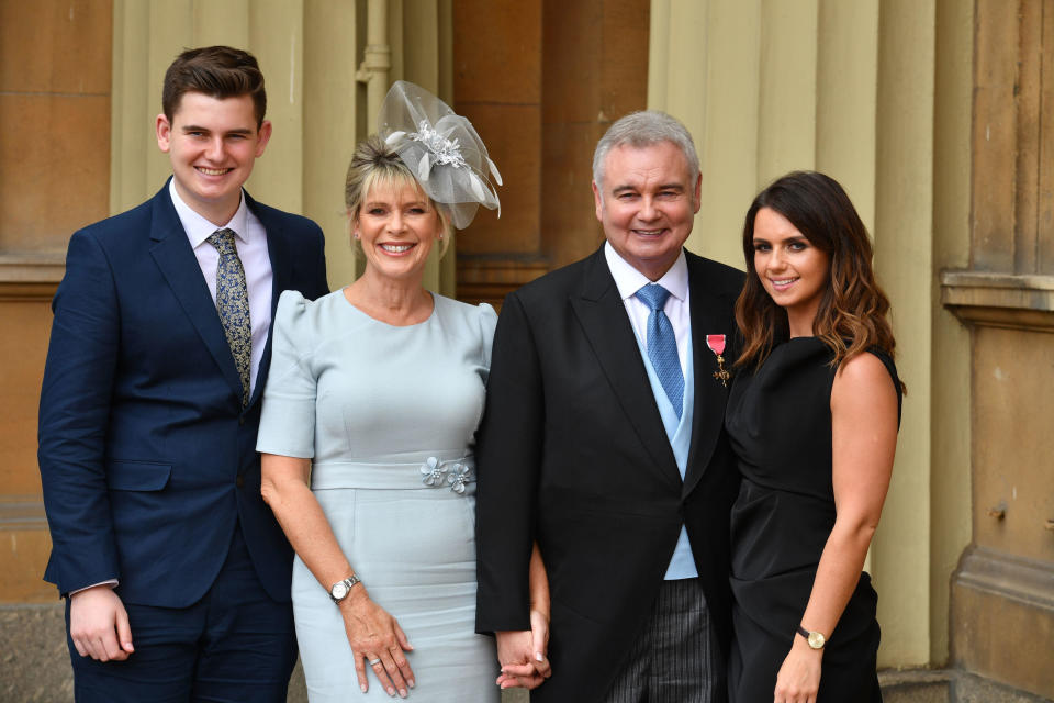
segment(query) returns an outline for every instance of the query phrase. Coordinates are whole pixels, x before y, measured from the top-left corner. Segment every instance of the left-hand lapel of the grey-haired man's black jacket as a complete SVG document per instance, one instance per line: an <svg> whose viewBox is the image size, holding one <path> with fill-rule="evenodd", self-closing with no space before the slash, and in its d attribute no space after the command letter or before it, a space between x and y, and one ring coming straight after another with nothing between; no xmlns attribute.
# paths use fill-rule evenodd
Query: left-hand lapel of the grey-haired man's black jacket
<svg viewBox="0 0 1054 703"><path fill-rule="evenodd" d="M654 460L654 470L663 480L680 487L681 472L603 247L590 258L582 291L571 299L571 306L623 411Z"/></svg>

